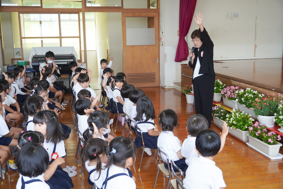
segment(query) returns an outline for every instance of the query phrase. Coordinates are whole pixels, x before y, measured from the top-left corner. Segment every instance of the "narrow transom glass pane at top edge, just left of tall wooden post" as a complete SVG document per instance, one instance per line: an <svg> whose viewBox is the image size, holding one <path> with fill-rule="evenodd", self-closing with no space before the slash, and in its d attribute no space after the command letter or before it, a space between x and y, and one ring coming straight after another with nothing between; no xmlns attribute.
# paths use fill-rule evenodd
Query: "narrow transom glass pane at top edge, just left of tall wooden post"
<svg viewBox="0 0 283 189"><path fill-rule="evenodd" d="M81 9L82 1L42 1L43 8L67 8L67 9Z"/></svg>

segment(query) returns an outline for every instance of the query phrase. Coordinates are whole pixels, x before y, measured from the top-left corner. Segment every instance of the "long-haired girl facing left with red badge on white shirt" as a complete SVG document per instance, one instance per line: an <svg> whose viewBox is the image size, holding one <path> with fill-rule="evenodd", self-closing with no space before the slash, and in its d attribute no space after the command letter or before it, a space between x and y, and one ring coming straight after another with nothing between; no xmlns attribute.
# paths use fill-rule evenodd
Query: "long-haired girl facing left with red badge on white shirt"
<svg viewBox="0 0 283 189"><path fill-rule="evenodd" d="M60 167L68 172L70 177L73 177L77 174L75 166L67 166L66 162L66 151L64 139L65 135L62 129L62 126L59 123L58 117L53 111L43 110L39 111L34 115L33 118L34 130L41 132L44 136L43 146L49 154L50 163L53 162L51 159L52 153L57 152L59 157L63 157L65 160Z"/></svg>

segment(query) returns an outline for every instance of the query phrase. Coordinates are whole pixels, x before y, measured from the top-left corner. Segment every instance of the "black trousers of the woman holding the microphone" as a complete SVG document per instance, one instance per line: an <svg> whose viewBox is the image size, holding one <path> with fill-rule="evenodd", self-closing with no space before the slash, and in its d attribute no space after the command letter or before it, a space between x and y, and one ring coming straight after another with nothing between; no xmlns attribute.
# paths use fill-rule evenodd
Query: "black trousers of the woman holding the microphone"
<svg viewBox="0 0 283 189"><path fill-rule="evenodd" d="M205 116L208 121L208 128L210 128L215 76L200 75L194 78L193 82L195 113Z"/></svg>

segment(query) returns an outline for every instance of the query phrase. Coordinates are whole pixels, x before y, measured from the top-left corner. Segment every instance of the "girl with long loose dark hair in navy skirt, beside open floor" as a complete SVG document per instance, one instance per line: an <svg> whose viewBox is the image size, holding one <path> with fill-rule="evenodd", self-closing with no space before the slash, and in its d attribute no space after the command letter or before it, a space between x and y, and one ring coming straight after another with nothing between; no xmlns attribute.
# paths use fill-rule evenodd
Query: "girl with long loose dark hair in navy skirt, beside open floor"
<svg viewBox="0 0 283 189"><path fill-rule="evenodd" d="M161 133L157 129L157 125L154 124L155 111L151 99L144 95L139 97L136 102L136 127L140 129L144 139L144 145L147 147L144 151L148 155L152 155L150 149L157 149L157 139ZM139 133L137 130L136 132ZM135 139L136 147L139 148L142 146L142 140L140 137Z"/></svg>

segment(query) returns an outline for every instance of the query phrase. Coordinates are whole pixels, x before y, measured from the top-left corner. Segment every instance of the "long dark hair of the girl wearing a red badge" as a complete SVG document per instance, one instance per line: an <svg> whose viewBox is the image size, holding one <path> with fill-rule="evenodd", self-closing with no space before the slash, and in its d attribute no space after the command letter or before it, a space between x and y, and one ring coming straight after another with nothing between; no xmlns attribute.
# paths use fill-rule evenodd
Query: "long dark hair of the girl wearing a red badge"
<svg viewBox="0 0 283 189"><path fill-rule="evenodd" d="M46 124L46 140L57 144L65 137L62 126L54 111L43 110L34 115L34 124ZM66 138L66 137L65 137Z"/></svg>

